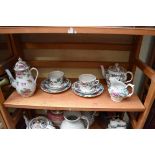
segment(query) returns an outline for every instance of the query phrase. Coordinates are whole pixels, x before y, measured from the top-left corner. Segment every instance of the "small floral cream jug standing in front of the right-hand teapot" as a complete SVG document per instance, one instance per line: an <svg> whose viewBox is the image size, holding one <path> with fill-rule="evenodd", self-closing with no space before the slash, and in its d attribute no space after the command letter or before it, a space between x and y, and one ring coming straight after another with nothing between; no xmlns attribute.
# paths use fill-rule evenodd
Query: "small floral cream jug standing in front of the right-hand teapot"
<svg viewBox="0 0 155 155"><path fill-rule="evenodd" d="M134 85L133 84L125 84L121 81L118 81L114 77L110 77L110 86L108 88L111 99L115 102L121 102L124 98L131 97L134 93ZM131 93L128 91L128 87L131 87Z"/></svg>

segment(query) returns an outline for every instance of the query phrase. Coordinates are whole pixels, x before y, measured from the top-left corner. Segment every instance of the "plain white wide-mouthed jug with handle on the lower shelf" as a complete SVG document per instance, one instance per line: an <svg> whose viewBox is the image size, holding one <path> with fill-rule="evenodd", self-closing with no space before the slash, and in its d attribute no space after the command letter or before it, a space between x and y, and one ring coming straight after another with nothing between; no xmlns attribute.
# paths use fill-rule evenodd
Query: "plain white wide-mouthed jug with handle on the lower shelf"
<svg viewBox="0 0 155 155"><path fill-rule="evenodd" d="M68 111L64 112L64 121L62 122L60 129L88 129L89 120L87 117L82 116L80 112ZM87 121L87 127L84 126L84 122Z"/></svg>

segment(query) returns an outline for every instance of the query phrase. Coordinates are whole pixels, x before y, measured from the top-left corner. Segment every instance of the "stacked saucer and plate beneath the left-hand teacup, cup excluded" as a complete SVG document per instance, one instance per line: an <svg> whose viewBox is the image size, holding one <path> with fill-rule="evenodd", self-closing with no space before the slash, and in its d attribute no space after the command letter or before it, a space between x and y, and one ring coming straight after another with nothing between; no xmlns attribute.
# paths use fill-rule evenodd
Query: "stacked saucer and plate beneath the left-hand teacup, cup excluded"
<svg viewBox="0 0 155 155"><path fill-rule="evenodd" d="M47 92L47 93L61 93L66 90L68 90L71 87L71 82L69 79L65 79L65 81L62 83L62 85L57 88L57 87L51 87L50 86L50 81L48 79L45 79L44 81L41 82L40 88Z"/></svg>

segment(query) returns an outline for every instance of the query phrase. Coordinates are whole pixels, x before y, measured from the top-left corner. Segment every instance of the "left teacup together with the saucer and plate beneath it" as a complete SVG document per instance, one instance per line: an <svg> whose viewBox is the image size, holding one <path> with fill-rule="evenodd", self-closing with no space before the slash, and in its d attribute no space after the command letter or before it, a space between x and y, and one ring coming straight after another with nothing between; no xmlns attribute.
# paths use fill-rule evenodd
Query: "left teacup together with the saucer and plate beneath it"
<svg viewBox="0 0 155 155"><path fill-rule="evenodd" d="M41 89L47 93L61 93L71 87L71 82L62 71L50 72L48 78L41 82Z"/></svg>

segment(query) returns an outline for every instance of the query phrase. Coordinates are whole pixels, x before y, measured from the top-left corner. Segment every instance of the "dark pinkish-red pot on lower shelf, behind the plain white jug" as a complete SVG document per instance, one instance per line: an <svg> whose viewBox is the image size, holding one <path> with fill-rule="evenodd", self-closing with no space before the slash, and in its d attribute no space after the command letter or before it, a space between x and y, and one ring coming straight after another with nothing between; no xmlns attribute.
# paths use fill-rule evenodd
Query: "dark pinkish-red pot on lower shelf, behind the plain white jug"
<svg viewBox="0 0 155 155"><path fill-rule="evenodd" d="M56 111L48 111L47 112L47 117L57 127L60 127L62 121L64 120L63 111L59 111L59 110L56 110Z"/></svg>

